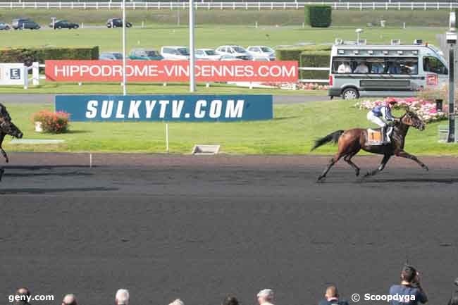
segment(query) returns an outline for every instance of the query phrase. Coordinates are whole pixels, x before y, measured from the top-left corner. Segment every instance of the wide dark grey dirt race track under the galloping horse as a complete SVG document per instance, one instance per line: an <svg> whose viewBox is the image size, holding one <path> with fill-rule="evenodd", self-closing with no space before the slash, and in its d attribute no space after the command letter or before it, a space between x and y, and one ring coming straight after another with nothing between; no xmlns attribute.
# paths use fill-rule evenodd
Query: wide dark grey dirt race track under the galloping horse
<svg viewBox="0 0 458 305"><path fill-rule="evenodd" d="M406 259L431 304L458 276L458 158L393 158L361 181L328 157L10 154L0 183L0 300L17 287L81 305L311 305L329 282L383 294ZM380 157L354 158L362 173ZM3 160L2 160L3 162ZM355 303L353 303L355 304ZM359 301L358 304L377 304ZM386 304L379 302L379 304Z"/></svg>

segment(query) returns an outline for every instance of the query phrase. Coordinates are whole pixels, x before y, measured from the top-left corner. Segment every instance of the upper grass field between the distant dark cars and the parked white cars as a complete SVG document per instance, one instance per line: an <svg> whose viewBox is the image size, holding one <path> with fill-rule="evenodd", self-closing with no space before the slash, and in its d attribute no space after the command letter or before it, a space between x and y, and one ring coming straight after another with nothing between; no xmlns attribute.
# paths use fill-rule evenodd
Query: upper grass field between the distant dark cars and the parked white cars
<svg viewBox="0 0 458 305"><path fill-rule="evenodd" d="M24 30L0 32L0 48L18 46L100 46L100 51L120 51L121 30L107 28L85 28L80 30ZM444 33L445 28L421 27L366 27L362 38L369 44L390 43L390 39L401 39L409 44L414 39L436 43L435 35ZM128 30L127 49L166 45L189 44L187 27L157 25ZM233 25L204 25L196 29L196 47L215 48L222 44L268 45L297 44L299 42L332 43L335 38L356 39L354 27L329 27L325 29L297 27L242 27Z"/></svg>

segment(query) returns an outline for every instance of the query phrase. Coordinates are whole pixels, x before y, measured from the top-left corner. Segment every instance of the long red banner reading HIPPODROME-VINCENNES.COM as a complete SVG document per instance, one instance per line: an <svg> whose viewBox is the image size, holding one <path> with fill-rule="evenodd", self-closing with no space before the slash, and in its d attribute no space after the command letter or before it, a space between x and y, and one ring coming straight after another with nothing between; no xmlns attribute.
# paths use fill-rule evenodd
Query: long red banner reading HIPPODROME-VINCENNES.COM
<svg viewBox="0 0 458 305"><path fill-rule="evenodd" d="M197 61L197 82L297 82L297 61ZM52 82L120 82L122 61L46 61ZM130 82L187 82L189 61L128 61Z"/></svg>

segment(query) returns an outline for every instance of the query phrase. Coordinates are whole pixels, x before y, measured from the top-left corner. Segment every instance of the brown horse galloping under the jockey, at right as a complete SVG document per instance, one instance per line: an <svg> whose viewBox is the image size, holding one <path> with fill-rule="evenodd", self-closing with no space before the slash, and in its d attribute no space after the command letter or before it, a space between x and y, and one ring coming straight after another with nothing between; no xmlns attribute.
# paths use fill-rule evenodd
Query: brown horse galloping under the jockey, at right
<svg viewBox="0 0 458 305"><path fill-rule="evenodd" d="M363 149L364 151L368 151L373 154L382 154L383 159L380 163L380 166L375 170L372 170L364 177L376 175L380 171L385 168L386 163L390 160L391 156L400 156L402 158L409 158L416 163L418 163L422 168L428 170L428 166L426 166L423 162L419 161L416 156L411 155L404 151L404 142L407 132L409 131L409 127L415 127L418 130L424 130L425 124L423 120L419 118L416 113L406 110L404 116L399 119L395 120L395 125L393 127L391 133L391 142L388 144L383 145L371 145L368 144L368 135L367 130L362 128L354 128L347 131L338 130L333 132L326 137L316 140L314 147L311 149L312 151L321 145L326 144L328 142L338 143L338 152L330 159L328 166L326 166L323 173L318 177L318 182L323 180L328 174L330 168L340 160L340 158L344 157L345 162L347 162L352 168L354 168L356 175L359 175L359 167L352 162L352 157L358 154L359 150Z"/></svg>

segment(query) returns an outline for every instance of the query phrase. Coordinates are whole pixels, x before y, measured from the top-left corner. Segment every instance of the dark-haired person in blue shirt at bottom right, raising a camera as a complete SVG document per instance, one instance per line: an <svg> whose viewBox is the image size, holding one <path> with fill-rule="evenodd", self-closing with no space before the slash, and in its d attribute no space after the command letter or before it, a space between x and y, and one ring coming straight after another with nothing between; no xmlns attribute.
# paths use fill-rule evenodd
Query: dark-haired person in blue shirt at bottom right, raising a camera
<svg viewBox="0 0 458 305"><path fill-rule="evenodd" d="M390 287L391 305L417 305L428 301L420 284L420 273L412 266L404 266L400 285Z"/></svg>

